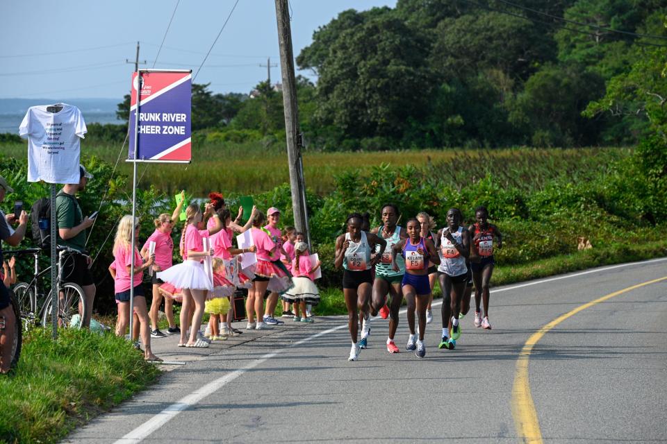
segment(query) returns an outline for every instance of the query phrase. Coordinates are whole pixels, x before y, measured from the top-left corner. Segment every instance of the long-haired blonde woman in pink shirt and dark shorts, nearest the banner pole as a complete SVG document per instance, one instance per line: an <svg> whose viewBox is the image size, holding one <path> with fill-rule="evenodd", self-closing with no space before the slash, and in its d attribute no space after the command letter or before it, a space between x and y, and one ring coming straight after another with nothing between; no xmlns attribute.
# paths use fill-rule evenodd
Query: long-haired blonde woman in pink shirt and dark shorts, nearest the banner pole
<svg viewBox="0 0 667 444"><path fill-rule="evenodd" d="M132 238L132 224L134 220L132 216L123 216L118 223L116 231L116 239L113 243L113 257L114 261L110 268L115 269L114 275L114 293L116 302L118 304L118 322L116 324L116 335L124 336L125 329L130 319L130 274L134 273L134 309L139 316L141 323L141 341L144 343L144 357L151 361L160 361L161 359L151 352L151 331L148 325L148 309L146 306L146 298L144 296L144 288L141 281L144 270L154 264L155 256L148 258L146 262L135 247L131 252L131 238ZM136 223L135 230L136 237L139 236L139 223ZM134 255L134 270L131 269L132 255Z"/></svg>

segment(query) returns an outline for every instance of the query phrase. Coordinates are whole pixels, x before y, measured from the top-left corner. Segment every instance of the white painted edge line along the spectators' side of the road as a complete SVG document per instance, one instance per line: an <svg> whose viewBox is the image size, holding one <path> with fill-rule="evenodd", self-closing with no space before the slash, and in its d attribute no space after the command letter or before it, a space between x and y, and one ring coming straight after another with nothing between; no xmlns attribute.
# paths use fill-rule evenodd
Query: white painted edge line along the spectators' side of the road
<svg viewBox="0 0 667 444"><path fill-rule="evenodd" d="M667 257L661 257L659 259L651 259L651 260L643 261L643 262L629 262L627 264L607 266L607 267L603 267L603 268L595 268L593 270L583 271L581 273L574 273L574 274L559 276L558 278L548 278L548 279L543 279L543 280L537 280L537 281L534 281L534 282L528 282L527 284L514 285L513 287L504 287L502 289L491 290L491 293L500 293L500 291L509 291L509 290L514 290L514 289L520 289L520 288L523 288L523 287L530 287L532 285L544 284L546 282L553 282L555 280L575 278L577 276L588 275L588 274L591 274L591 273L600 273L601 271L614 270L616 268L623 268L623 267L626 267L626 266L632 266L632 265L637 265L637 264L652 264L654 262L664 262L664 261L667 261ZM439 300L437 302L434 302L431 306L436 306L437 307L438 305L441 305L442 303L443 303L442 300ZM401 314L404 314L405 312L406 312L405 309L401 310ZM371 319L371 321L372 321L372 319ZM325 334L329 334L329 333L336 332L338 330L342 330L343 328L347 328L347 324L339 325L338 327L330 328L329 330L324 330L323 332L319 332L319 333L313 334L311 336L308 336L308 337L302 339L301 341L297 341L297 342L295 342L291 345L288 345L286 348L282 348L281 350L278 350L276 352L267 353L266 355L263 355L262 357L252 361L250 364L248 364L244 368L234 370L233 372L228 373L227 375L219 377L218 379L215 379L214 381L209 382L208 384L206 384L204 386L201 386L200 388L197 388L197 390L193 391L189 395L184 396L179 401L170 405L169 407L167 407L163 411L160 411L160 413L156 414L156 416L147 420L142 425L140 425L136 429L129 432L129 434L126 434L125 436L123 436L119 440L115 441L115 444L140 443L145 438L147 438L151 433L155 432L157 429L159 429L160 427L165 425L167 422L169 422L172 418L174 418L174 416L181 413L181 411L187 409L188 407L192 407L193 405L197 404L199 401L203 400L207 396L209 396L212 393L220 390L220 388L222 388L223 386L225 386L229 382L232 382L234 379L242 376L248 370L251 370L252 368L255 368L256 366L258 366L260 364L263 364L265 361L271 359L272 357L275 357L276 355L280 355L281 353L285 352L289 348L293 348L293 347L296 347L297 345L301 345L302 343L312 341L313 339L316 339L320 336L324 336Z"/></svg>

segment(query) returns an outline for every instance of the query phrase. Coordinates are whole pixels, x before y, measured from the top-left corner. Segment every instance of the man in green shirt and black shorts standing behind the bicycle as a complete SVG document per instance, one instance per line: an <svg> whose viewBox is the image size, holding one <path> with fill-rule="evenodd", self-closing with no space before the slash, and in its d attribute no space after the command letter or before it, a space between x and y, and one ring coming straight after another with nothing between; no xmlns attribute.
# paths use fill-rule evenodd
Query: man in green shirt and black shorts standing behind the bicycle
<svg viewBox="0 0 667 444"><path fill-rule="evenodd" d="M76 193L85 190L88 179L92 179L92 174L85 171L83 165L79 167L81 180L76 184L67 184L58 191L56 196L56 219L58 227L58 245L68 246L83 253L85 250L85 230L90 228L94 219L83 217L81 207L76 200ZM95 299L95 283L90 273L92 259L88 255L71 255L63 262L63 279L67 282L74 282L81 286L85 293L85 314L81 313L82 307L79 307L79 315L82 319L83 327L90 325L90 316L92 315L92 304Z"/></svg>

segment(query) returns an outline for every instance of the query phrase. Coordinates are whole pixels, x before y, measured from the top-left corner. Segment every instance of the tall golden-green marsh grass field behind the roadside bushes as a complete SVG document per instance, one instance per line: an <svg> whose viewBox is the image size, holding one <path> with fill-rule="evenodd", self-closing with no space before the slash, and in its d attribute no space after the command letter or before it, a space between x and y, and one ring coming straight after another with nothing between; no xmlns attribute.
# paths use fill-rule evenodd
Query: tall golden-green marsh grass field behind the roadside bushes
<svg viewBox="0 0 667 444"><path fill-rule="evenodd" d="M121 146L84 141L81 153L97 155L115 164ZM154 185L167 194L186 189L193 196L206 196L212 190L225 194L256 194L289 182L287 153L281 148L264 147L261 142L254 142L204 143L193 149L190 165L140 164L140 188ZM0 154L3 155L25 157L25 150L24 144L0 144ZM354 169L369 171L381 164L428 167L432 176L443 185L453 183L457 187L478 180L485 171L497 173L501 178L508 176L512 182L529 184L569 173L573 168L583 167L593 173L609 163L609 155L616 157L614 153L621 152L617 148L504 148L493 151L448 148L356 153L306 150L303 157L306 187L323 195L336 187L334 176ZM124 162L126 156L127 148L124 148L118 171L131 178L131 166Z"/></svg>

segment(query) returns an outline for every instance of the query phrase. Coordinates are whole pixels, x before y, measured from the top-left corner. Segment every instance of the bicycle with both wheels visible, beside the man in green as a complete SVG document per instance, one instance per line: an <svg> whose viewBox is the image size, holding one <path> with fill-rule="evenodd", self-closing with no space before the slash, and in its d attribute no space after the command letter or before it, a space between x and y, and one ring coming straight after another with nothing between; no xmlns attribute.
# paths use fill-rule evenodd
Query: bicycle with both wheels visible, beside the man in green
<svg viewBox="0 0 667 444"><path fill-rule="evenodd" d="M17 300L17 305L19 308L20 317L24 321L25 329L31 325L51 325L51 289L47 296L44 296L44 285L42 283L42 278L47 273L50 273L51 267L44 268L40 271L40 254L42 250L39 248L26 248L25 250L13 250L7 251L7 254L14 255L33 255L35 258L35 273L33 279L30 283L19 282L14 286L14 294ZM85 313L86 303L85 303L85 293L83 289L79 287L79 284L74 282L63 282L63 262L65 255L81 255L78 250L74 248L69 248L65 246L58 246L58 278L56 282L56 287L59 289L58 300L58 325L60 327L70 327L72 326L72 318L76 315L79 316L79 323L77 328L81 328L83 321L83 313ZM42 306L40 307L40 301L42 301Z"/></svg>

